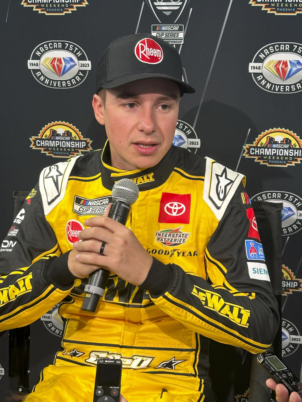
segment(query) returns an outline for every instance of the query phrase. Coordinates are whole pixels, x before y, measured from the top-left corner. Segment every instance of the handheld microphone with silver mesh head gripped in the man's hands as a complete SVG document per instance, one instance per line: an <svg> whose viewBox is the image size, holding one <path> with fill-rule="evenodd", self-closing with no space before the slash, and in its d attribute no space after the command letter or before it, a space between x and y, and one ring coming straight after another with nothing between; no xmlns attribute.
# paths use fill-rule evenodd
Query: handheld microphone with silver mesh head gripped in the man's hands
<svg viewBox="0 0 302 402"><path fill-rule="evenodd" d="M112 188L112 205L108 217L114 221L126 225L130 206L135 203L139 197L139 187L130 178L118 180ZM101 245L104 249L105 242ZM99 298L103 296L110 272L107 269L100 268L92 272L85 285L85 297L82 304L82 310L95 312Z"/></svg>

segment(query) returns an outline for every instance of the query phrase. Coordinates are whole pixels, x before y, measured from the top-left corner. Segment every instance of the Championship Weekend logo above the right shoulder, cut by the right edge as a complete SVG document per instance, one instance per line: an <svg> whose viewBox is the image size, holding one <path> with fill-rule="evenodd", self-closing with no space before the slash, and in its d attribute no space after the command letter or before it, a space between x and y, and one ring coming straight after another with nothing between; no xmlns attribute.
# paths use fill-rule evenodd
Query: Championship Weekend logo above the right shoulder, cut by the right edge
<svg viewBox="0 0 302 402"><path fill-rule="evenodd" d="M253 144L244 146L244 156L267 166L287 167L301 163L302 141L284 128L269 129L261 133Z"/></svg>

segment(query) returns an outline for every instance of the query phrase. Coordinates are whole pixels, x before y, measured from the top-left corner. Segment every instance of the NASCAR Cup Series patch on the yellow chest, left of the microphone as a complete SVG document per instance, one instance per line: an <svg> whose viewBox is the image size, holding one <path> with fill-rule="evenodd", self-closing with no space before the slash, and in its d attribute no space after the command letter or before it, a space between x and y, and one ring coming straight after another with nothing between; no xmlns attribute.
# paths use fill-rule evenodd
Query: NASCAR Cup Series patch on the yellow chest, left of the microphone
<svg viewBox="0 0 302 402"><path fill-rule="evenodd" d="M108 204L112 202L111 196L99 198L83 198L79 195L74 196L73 212L82 215L103 215Z"/></svg>

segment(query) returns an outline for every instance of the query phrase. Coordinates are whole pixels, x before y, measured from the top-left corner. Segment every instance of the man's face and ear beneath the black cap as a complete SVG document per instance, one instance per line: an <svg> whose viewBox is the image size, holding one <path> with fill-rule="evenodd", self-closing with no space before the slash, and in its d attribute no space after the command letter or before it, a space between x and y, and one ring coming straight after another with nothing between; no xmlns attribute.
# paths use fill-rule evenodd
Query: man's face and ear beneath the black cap
<svg viewBox="0 0 302 402"><path fill-rule="evenodd" d="M121 170L155 166L172 145L179 100L178 85L164 78L106 90L105 107L95 95L95 117L105 125L112 166Z"/></svg>

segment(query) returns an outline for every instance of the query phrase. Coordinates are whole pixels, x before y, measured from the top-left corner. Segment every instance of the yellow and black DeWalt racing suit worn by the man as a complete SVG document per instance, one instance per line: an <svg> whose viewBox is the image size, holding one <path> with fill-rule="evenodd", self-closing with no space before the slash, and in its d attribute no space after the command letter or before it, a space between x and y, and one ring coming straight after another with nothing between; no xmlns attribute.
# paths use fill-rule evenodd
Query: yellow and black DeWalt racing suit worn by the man
<svg viewBox="0 0 302 402"><path fill-rule="evenodd" d="M174 146L152 168L122 171L109 161L107 143L45 168L2 243L0 330L58 303L64 320L62 350L25 400L91 402L100 357L122 359L129 402L212 400L209 338L260 353L278 324L245 178ZM87 312L87 278L70 273L68 251L121 178L139 186L126 226L153 264L139 287L112 273Z"/></svg>

